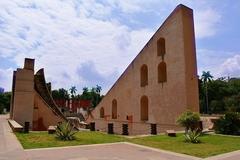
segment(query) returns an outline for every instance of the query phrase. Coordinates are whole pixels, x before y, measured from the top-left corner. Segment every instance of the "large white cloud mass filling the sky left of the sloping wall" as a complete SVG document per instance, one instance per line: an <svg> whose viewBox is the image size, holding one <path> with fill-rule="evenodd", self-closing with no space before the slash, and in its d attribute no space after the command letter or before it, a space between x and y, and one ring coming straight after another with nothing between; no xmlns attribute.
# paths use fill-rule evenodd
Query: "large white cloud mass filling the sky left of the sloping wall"
<svg viewBox="0 0 240 160"><path fill-rule="evenodd" d="M92 84L86 83L86 74L78 75L82 65L92 62L98 77L115 74L108 86L104 85L106 92L152 35L147 29L130 30L117 20L100 19L96 15L102 11L89 8L103 6L94 7L86 1L83 5L63 1L0 2L0 6L0 16L5 19L5 27L0 29L0 56L13 59L19 67L25 57L35 58L36 68L45 68L54 88L76 85L80 89Z"/></svg>

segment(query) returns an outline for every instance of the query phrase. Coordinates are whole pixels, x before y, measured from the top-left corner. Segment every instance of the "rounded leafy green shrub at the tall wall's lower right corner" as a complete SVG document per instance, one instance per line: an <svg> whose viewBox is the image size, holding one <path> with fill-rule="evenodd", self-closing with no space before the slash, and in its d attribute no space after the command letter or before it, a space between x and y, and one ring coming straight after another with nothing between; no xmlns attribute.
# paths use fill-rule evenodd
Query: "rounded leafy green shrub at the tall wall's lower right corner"
<svg viewBox="0 0 240 160"><path fill-rule="evenodd" d="M182 113L177 119L177 123L185 127L185 133L189 129L191 129L191 131L196 130L198 128L199 121L199 114L191 111L186 111Z"/></svg>

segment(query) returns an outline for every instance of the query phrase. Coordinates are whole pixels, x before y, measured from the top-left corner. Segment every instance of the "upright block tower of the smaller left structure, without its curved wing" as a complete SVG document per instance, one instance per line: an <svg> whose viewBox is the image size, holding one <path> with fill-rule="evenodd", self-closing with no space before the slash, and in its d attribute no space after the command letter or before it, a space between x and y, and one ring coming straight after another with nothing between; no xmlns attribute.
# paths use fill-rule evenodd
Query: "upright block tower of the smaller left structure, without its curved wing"
<svg viewBox="0 0 240 160"><path fill-rule="evenodd" d="M24 126L29 122L32 128L34 108L34 59L25 59L24 68L18 68L13 75L13 99L11 117Z"/></svg>

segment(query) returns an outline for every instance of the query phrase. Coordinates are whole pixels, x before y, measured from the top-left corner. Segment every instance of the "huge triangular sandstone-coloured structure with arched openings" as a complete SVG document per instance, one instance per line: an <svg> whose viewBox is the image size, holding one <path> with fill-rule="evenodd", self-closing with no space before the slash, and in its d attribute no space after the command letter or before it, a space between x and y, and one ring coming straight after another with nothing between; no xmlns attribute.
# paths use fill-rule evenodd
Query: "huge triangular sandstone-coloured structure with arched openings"
<svg viewBox="0 0 240 160"><path fill-rule="evenodd" d="M193 10L177 6L92 112L89 122L115 133L128 124L129 134L181 129L177 117L199 111Z"/></svg>

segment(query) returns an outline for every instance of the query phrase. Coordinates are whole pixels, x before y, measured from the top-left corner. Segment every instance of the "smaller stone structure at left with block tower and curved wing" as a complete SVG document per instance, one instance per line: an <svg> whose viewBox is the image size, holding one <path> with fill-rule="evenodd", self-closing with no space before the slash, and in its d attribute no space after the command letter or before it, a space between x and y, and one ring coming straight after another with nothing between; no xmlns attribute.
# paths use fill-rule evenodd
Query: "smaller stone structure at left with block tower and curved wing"
<svg viewBox="0 0 240 160"><path fill-rule="evenodd" d="M51 84L46 83L44 70L34 74L34 59L25 59L24 67L13 72L10 119L32 130L47 130L66 118L51 96Z"/></svg>

